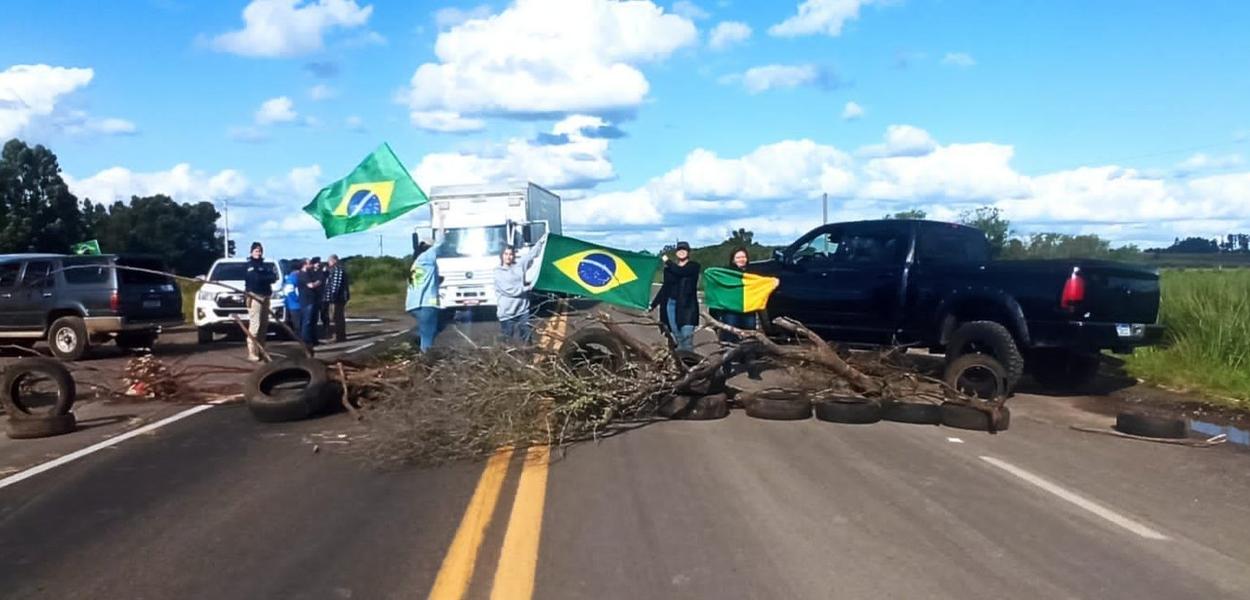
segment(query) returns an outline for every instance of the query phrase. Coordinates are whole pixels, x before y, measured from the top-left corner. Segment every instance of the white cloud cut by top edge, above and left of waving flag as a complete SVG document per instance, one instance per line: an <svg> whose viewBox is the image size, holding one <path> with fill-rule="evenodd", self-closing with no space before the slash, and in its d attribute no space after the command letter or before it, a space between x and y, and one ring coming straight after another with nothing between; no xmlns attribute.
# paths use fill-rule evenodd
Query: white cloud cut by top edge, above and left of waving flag
<svg viewBox="0 0 1250 600"><path fill-rule="evenodd" d="M212 39L212 48L241 56L300 56L321 50L332 29L365 25L372 6L355 0L252 0L242 9L244 29Z"/></svg>

